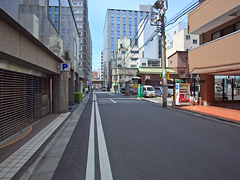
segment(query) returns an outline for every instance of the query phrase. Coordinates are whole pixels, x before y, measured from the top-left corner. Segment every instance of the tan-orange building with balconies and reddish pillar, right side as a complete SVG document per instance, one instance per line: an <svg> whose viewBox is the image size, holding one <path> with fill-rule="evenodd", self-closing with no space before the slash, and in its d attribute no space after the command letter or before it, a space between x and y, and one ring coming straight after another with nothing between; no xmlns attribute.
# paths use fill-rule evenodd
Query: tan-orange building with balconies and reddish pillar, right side
<svg viewBox="0 0 240 180"><path fill-rule="evenodd" d="M238 100L240 0L199 2L188 14L189 33L200 35L200 46L188 52L190 73L200 76L200 96L205 104ZM226 78L216 84L219 76Z"/></svg>

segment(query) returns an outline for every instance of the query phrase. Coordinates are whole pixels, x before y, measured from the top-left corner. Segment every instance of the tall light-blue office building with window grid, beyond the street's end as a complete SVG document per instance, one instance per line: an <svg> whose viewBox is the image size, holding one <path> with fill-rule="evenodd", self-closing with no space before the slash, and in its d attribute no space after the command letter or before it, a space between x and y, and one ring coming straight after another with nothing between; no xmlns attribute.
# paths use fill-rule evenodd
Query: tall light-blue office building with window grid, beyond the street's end
<svg viewBox="0 0 240 180"><path fill-rule="evenodd" d="M103 31L103 64L106 63L106 65L108 65L109 63L107 62L109 62L113 58L113 54L117 52L118 39L128 37L132 39L132 45L138 44L135 34L138 31L140 22L148 15L150 7L151 6L140 5L139 10L107 10ZM109 76L109 67L105 67L103 83L106 85Z"/></svg>

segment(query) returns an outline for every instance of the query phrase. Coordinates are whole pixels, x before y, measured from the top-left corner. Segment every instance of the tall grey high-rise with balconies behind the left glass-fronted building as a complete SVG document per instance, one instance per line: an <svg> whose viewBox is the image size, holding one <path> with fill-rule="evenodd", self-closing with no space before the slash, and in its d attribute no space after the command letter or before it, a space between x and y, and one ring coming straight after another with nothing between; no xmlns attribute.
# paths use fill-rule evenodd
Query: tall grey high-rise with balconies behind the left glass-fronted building
<svg viewBox="0 0 240 180"><path fill-rule="evenodd" d="M79 32L79 66L83 73L83 83L91 79L92 39L88 22L88 1L73 0L73 13Z"/></svg>

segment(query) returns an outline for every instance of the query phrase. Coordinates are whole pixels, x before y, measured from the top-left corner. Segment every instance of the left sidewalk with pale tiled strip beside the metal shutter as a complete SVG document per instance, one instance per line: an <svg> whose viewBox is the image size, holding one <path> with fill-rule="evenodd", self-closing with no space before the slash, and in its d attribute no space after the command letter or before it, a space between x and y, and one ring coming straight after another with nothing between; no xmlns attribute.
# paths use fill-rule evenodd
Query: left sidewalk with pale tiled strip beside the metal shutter
<svg viewBox="0 0 240 180"><path fill-rule="evenodd" d="M19 179L29 165L39 156L56 133L71 120L84 101L69 107L69 112L63 114L49 114L21 134L0 146L0 179Z"/></svg>

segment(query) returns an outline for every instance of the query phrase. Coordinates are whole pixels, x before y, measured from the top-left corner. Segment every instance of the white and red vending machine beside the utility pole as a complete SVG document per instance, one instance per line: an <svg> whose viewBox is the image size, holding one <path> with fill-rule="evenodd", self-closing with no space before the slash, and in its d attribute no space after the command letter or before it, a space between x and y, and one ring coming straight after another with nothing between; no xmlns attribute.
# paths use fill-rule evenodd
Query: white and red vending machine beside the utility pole
<svg viewBox="0 0 240 180"><path fill-rule="evenodd" d="M175 105L190 105L190 83L175 84Z"/></svg>

